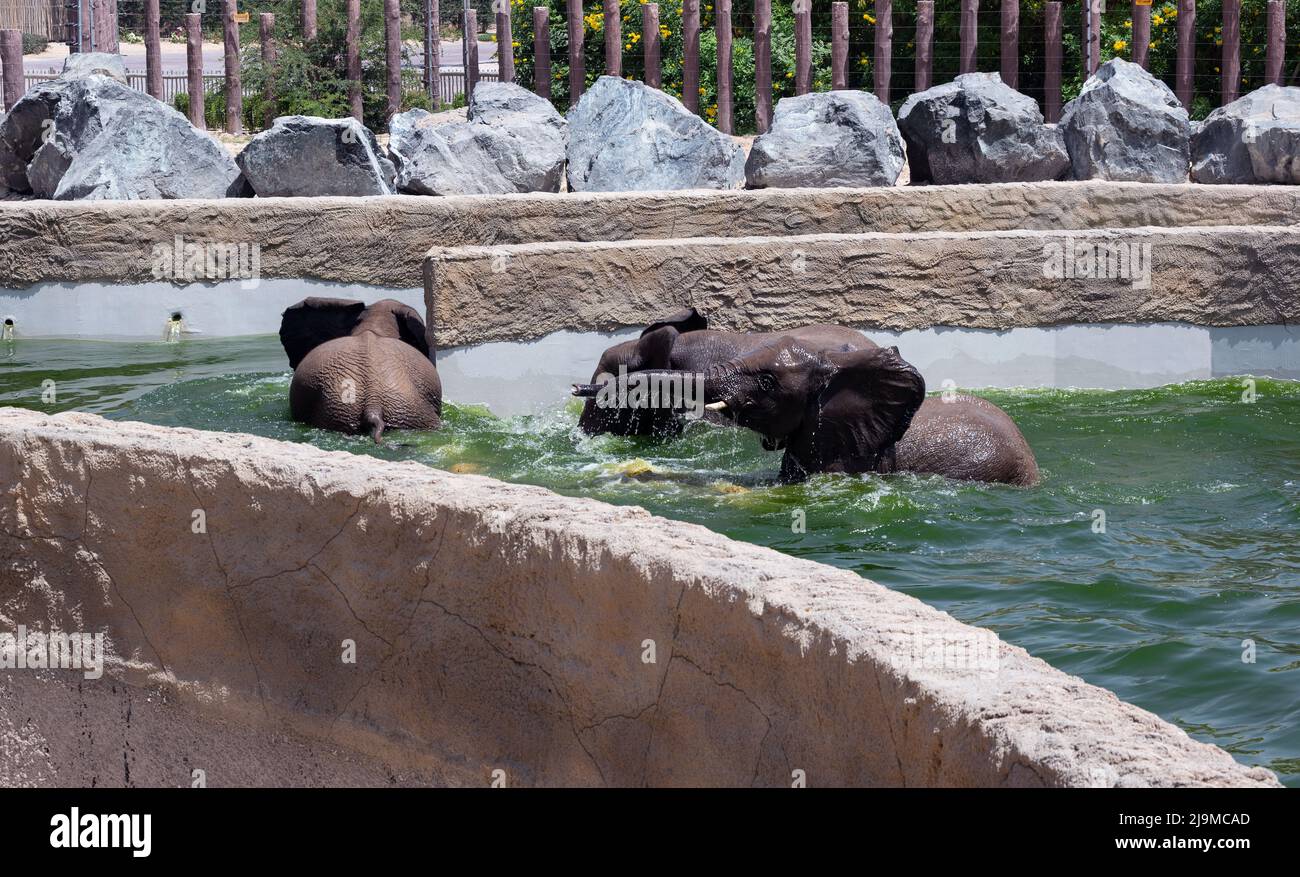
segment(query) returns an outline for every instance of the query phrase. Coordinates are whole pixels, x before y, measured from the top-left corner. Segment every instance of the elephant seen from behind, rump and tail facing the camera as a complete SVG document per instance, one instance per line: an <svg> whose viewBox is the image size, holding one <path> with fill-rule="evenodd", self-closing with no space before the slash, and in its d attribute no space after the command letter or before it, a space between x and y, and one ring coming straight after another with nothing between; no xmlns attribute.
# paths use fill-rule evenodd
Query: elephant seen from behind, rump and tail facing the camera
<svg viewBox="0 0 1300 877"><path fill-rule="evenodd" d="M369 434L385 429L438 429L442 382L437 350L416 311L394 299L367 307L351 299L303 299L287 308L280 343L294 378L294 420Z"/></svg>

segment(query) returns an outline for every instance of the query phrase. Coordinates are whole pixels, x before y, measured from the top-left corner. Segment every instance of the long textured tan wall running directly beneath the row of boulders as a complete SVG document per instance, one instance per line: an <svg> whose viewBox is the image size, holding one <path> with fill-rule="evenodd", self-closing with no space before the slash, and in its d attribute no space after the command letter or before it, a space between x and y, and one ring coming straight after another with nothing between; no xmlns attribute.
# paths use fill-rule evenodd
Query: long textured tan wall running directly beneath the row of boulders
<svg viewBox="0 0 1300 877"><path fill-rule="evenodd" d="M153 244L257 243L264 277L413 288L430 247L858 231L1287 225L1288 186L1006 183L734 192L0 203L0 287L152 279Z"/></svg>

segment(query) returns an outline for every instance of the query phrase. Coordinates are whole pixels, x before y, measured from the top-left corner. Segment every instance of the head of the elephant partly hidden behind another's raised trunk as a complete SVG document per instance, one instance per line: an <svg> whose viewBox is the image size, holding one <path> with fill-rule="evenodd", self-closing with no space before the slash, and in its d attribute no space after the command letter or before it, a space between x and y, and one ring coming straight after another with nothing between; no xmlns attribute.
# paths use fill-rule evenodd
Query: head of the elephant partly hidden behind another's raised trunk
<svg viewBox="0 0 1300 877"><path fill-rule="evenodd" d="M595 366L590 385L576 385L575 395L586 396L578 426L589 435L663 435L681 430L680 412L671 408L629 408L598 404L595 387L620 372L659 372L672 368L672 348L688 331L707 329L708 321L694 308L650 324L636 340L623 342L604 351Z"/></svg>

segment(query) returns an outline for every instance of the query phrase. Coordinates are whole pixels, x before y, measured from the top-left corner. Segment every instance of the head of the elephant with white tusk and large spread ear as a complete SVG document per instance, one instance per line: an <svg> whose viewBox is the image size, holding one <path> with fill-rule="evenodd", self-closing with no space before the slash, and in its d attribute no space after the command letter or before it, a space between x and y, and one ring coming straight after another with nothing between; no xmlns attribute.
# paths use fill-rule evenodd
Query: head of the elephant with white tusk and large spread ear
<svg viewBox="0 0 1300 877"><path fill-rule="evenodd" d="M880 470L926 398L897 347L810 351L789 337L707 370L703 383L710 411L785 450L783 481Z"/></svg>

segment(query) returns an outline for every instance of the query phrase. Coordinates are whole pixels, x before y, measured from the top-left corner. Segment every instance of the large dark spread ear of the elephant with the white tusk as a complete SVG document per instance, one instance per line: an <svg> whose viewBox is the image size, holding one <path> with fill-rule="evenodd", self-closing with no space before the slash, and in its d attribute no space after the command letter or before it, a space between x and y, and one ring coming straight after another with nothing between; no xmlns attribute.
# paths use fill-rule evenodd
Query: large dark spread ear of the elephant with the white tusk
<svg viewBox="0 0 1300 877"><path fill-rule="evenodd" d="M826 353L818 395L823 457L875 460L894 446L926 400L926 379L897 347Z"/></svg>

